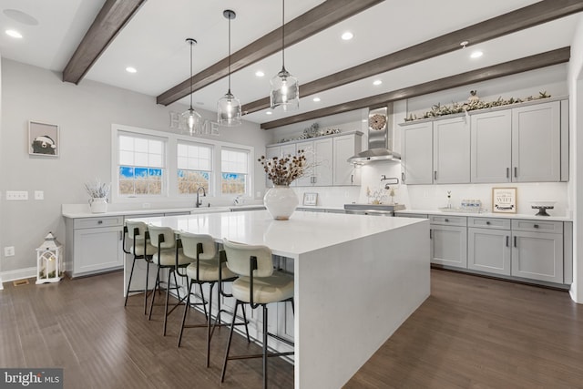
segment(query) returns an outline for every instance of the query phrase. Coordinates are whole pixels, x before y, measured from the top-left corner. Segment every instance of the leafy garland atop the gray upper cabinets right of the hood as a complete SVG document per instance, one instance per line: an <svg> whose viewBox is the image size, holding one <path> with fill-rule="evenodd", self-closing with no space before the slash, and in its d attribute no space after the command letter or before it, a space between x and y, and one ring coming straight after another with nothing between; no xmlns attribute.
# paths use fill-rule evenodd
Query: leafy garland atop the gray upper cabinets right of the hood
<svg viewBox="0 0 583 389"><path fill-rule="evenodd" d="M476 96L476 90L470 91L471 96L467 99L465 103L452 103L451 106L442 106L439 103L435 104L435 106L431 107L430 111L424 113L423 117L418 118L414 114L409 114L408 118L405 118L404 121L414 121L414 120L421 120L424 118L437 118L442 117L445 115L452 115L452 114L460 114L467 111L473 111L476 109L484 109L484 108L491 108L491 107L501 107L501 106L508 106L511 104L517 103L524 103L525 101L533 101L539 100L541 98L548 98L550 95L547 94L547 91L538 92L537 97L529 96L524 98L514 98L510 97L508 99L503 99L502 97L498 97L495 101L480 101L480 98Z"/></svg>

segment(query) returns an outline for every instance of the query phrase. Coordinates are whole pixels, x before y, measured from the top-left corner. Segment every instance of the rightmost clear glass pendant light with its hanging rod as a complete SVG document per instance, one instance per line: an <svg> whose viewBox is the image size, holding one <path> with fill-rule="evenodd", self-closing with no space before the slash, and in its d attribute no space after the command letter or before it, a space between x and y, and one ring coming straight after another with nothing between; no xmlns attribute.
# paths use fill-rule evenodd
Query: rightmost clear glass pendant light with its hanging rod
<svg viewBox="0 0 583 389"><path fill-rule="evenodd" d="M281 107L284 111L300 107L300 84L285 69L285 0L281 8L281 72L271 78L271 109Z"/></svg>

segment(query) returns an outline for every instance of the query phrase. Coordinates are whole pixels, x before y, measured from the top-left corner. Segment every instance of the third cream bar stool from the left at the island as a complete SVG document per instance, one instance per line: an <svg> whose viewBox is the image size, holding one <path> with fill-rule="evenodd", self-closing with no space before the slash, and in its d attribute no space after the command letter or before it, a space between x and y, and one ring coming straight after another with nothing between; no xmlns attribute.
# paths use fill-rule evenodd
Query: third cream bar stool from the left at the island
<svg viewBox="0 0 583 389"><path fill-rule="evenodd" d="M206 327L207 328L207 367L210 365L210 340L212 339L212 334L214 332L216 325L223 325L220 323L220 313L228 311L224 311L220 308L220 297L217 299L217 315L215 320L215 325L212 326L212 331L210 324L212 322L212 315L210 314L212 311L212 290L217 282L232 282L237 278L237 274L230 271L226 263L220 262L217 250L217 243L212 239L210 235L206 234L192 234L188 232L181 232L180 233L180 244L182 245L183 254L186 257L193 259L194 261L189 264L186 268L185 273L180 273L178 264L177 264L177 273L179 276L187 277L189 279L189 291L187 294L186 305L184 306L184 315L182 316L182 326L180 327L179 333L179 343L178 346L180 347L180 342L182 340L182 333L185 328L197 328L197 327ZM202 292L202 285L208 283L210 285L210 298L209 298L209 312L207 313L206 304L207 302L204 300L204 293ZM202 302L198 302L196 304L200 304L203 306L204 313L207 319L206 324L189 324L186 325L186 316L189 312L190 305L190 296L195 295L192 292L192 286L199 285L200 294L202 297ZM196 305L195 304L195 305ZM245 324L245 331L247 333L247 339L249 340L249 330L247 329L247 317L245 317L245 312L243 311L243 319L244 322L236 323L238 324ZM219 324L217 324L217 322Z"/></svg>

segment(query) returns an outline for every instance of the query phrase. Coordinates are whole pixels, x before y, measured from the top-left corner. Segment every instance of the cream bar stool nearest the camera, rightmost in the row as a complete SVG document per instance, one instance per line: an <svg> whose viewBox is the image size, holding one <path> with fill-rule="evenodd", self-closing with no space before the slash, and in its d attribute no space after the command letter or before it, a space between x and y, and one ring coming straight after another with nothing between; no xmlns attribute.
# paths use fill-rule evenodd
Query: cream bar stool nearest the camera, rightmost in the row
<svg viewBox="0 0 583 389"><path fill-rule="evenodd" d="M261 245L247 245L233 241L223 240L223 248L227 257L227 267L230 271L239 275L239 278L232 282L232 295L235 297L235 310L230 325L229 342L225 360L222 365L220 382L225 380L227 362L231 359L259 358L263 360L263 388L267 388L267 358L270 356L292 355L287 353L268 353L268 335L277 340L293 345L292 342L281 337L268 333L267 328L267 304L271 302L292 302L293 309L293 275L282 271L273 270L273 257L269 247ZM250 304L252 309L263 308L263 349L261 354L230 356L230 341L233 334L233 323L239 306L243 309L244 304Z"/></svg>

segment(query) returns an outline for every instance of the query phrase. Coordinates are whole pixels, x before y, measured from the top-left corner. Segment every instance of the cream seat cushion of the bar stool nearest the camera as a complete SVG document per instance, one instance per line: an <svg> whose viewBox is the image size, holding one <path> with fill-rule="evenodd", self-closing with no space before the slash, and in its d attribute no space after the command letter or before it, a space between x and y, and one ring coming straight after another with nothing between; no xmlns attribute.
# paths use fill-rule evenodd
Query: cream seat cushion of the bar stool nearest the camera
<svg viewBox="0 0 583 389"><path fill-rule="evenodd" d="M239 277L232 283L231 293L240 302L251 302L251 279ZM253 280L253 302L269 304L293 298L293 275L273 271L267 281L261 278Z"/></svg>

